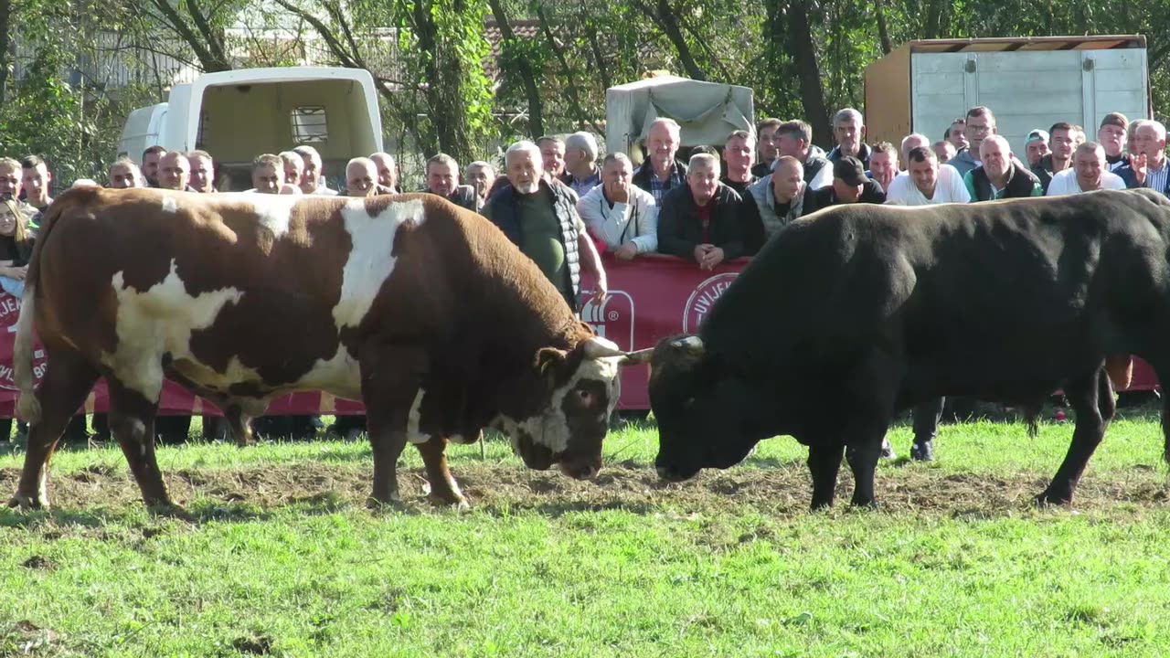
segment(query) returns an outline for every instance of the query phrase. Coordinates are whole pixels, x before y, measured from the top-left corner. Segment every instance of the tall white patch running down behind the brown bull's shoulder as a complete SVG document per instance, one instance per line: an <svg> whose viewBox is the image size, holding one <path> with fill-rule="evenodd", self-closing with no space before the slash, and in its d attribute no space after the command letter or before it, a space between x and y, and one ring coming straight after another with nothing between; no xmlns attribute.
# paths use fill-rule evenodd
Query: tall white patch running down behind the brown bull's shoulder
<svg viewBox="0 0 1170 658"><path fill-rule="evenodd" d="M381 285L394 270L394 235L407 220L422 221L422 200L393 203L377 217L366 212L364 199L353 199L342 208L345 231L353 246L345 260L342 299L333 307L338 329L357 327L373 306Z"/></svg>

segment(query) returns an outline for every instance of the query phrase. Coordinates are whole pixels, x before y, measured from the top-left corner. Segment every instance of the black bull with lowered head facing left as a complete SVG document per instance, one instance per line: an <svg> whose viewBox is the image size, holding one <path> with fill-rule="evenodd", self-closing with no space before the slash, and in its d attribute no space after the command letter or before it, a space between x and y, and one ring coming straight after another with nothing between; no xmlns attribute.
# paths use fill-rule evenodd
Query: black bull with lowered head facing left
<svg viewBox="0 0 1170 658"><path fill-rule="evenodd" d="M1170 201L1158 193L838 206L777 234L697 336L655 348L655 465L684 480L790 434L808 446L813 507L832 505L842 452L853 503L869 505L899 411L1064 388L1076 425L1039 496L1064 503L1115 411L1106 357L1141 356L1170 382L1168 338Z"/></svg>

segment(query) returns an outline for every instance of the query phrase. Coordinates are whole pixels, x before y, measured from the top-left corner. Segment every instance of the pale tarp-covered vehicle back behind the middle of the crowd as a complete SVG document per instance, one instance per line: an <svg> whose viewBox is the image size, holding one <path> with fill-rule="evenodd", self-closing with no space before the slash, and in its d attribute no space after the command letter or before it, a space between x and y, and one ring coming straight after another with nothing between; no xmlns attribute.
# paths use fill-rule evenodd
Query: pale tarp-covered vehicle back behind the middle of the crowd
<svg viewBox="0 0 1170 658"><path fill-rule="evenodd" d="M632 155L659 117L679 122L682 146L722 146L756 121L751 88L735 84L660 76L611 87L605 97L606 148Z"/></svg>

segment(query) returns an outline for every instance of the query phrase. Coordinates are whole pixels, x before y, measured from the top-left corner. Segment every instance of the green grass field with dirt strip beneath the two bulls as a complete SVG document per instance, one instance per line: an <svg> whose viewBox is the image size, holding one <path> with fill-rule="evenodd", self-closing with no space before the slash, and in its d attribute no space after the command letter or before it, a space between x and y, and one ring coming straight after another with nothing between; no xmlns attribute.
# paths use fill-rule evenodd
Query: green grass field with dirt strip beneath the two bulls
<svg viewBox="0 0 1170 658"><path fill-rule="evenodd" d="M164 447L192 520L147 513L116 447L69 450L53 510L0 512L0 656L1170 654L1161 430L1123 411L1074 506L1038 509L1071 430L945 425L937 462L881 465L878 510L817 514L789 438L682 485L645 426L593 482L454 446L464 513L413 448L404 508L371 512L363 443Z"/></svg>

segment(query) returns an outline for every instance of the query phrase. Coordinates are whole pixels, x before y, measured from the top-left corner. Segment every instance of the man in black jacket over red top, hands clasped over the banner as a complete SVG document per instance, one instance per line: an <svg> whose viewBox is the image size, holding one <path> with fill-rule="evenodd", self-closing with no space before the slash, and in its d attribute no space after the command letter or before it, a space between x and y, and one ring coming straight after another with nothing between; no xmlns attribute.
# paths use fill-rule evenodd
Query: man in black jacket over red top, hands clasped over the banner
<svg viewBox="0 0 1170 658"><path fill-rule="evenodd" d="M693 260L703 269L748 253L759 215L735 190L720 183L720 160L691 156L687 184L668 192L659 210L659 253ZM763 232L758 228L756 232Z"/></svg>

